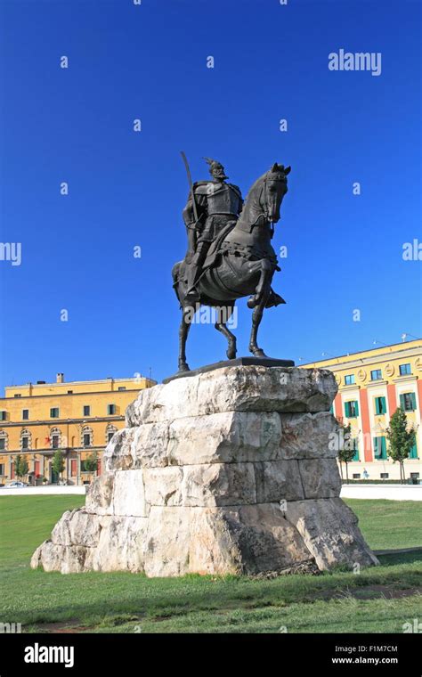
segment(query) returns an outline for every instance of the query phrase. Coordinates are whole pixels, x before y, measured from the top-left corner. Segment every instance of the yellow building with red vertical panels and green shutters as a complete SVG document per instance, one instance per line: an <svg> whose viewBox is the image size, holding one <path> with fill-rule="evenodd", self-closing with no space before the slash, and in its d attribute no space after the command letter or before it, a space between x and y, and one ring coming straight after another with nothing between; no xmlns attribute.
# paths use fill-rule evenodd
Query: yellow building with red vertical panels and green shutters
<svg viewBox="0 0 422 677"><path fill-rule="evenodd" d="M415 445L404 463L406 478L422 478L422 339L341 355L304 367L333 371L338 393L337 420L351 425L356 453L349 464L354 479L400 479L398 463L388 457L385 428L401 407L416 430Z"/></svg>

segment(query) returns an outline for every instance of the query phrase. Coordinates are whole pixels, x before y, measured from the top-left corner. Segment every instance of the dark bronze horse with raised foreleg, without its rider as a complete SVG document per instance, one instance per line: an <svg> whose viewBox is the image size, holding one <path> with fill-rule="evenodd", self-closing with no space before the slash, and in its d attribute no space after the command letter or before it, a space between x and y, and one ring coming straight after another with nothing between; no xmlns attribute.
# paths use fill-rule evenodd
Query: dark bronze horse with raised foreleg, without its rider
<svg viewBox="0 0 422 677"><path fill-rule="evenodd" d="M227 328L236 298L250 296L248 307L253 308L249 351L256 357L265 357L256 343L264 308L278 306L285 301L271 287L277 257L272 249L273 224L280 219L280 205L288 192L287 175L290 167L275 163L260 176L248 192L239 220L228 224L211 246L203 272L196 287L199 303L192 308L184 300L187 276L184 261L174 264L174 290L182 308L179 329L179 371L189 371L186 362L186 340L193 314L199 306L212 306L218 311L215 329L227 338L227 357L236 357L236 337ZM222 313L223 311L223 313Z"/></svg>

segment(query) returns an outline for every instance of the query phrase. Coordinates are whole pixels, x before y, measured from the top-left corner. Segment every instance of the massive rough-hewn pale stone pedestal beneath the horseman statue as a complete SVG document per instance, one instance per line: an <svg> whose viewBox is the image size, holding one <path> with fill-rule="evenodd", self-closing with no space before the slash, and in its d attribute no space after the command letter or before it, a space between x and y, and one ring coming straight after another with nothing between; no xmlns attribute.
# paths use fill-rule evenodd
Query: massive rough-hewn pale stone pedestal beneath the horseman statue
<svg viewBox="0 0 422 677"><path fill-rule="evenodd" d="M142 390L85 508L31 566L148 576L288 573L377 559L339 498L333 374L232 366Z"/></svg>

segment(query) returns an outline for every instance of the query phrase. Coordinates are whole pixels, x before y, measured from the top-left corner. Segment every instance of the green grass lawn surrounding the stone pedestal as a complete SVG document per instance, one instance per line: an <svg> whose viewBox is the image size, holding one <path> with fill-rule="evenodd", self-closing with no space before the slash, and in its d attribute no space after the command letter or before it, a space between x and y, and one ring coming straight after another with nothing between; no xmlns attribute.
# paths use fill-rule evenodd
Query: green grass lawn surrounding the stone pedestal
<svg viewBox="0 0 422 677"><path fill-rule="evenodd" d="M26 632L402 632L422 617L422 551L353 575L46 574L37 545L82 496L0 498L0 620ZM422 547L418 502L347 500L375 550Z"/></svg>

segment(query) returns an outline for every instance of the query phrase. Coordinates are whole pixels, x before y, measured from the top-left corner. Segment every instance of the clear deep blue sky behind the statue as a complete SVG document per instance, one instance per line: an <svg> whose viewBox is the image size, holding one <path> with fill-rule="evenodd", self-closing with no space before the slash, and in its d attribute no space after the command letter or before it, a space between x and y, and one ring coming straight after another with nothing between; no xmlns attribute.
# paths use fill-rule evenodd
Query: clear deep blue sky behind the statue
<svg viewBox="0 0 422 677"><path fill-rule="evenodd" d="M288 304L264 314L268 355L315 360L420 335L422 264L402 259L422 240L418 2L0 8L0 241L22 246L21 265L0 261L1 387L176 370L181 149L194 179L207 178L202 156L219 159L244 195L274 161L292 166L273 241L288 247L273 284ZM330 71L340 48L381 53L381 75ZM239 355L250 321L242 300ZM192 328L192 368L224 353L212 326Z"/></svg>

